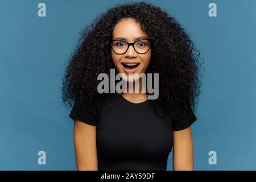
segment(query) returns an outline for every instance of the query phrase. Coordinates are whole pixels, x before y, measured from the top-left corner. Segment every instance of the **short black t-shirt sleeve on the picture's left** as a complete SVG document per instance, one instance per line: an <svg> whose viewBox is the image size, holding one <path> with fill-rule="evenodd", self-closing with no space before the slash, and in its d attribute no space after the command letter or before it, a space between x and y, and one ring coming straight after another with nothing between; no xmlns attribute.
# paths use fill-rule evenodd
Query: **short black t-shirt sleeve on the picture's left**
<svg viewBox="0 0 256 182"><path fill-rule="evenodd" d="M90 104L83 105L82 107L78 107L75 103L69 117L87 123L88 125L97 126L99 118L98 104L95 97Z"/></svg>

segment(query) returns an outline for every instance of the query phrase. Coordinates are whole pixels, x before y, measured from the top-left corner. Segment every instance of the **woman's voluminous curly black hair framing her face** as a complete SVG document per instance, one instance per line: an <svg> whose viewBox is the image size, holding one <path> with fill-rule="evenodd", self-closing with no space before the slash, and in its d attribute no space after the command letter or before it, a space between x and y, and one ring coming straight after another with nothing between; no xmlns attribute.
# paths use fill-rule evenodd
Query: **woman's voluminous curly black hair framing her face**
<svg viewBox="0 0 256 182"><path fill-rule="evenodd" d="M159 73L159 97L151 100L155 114L161 116L168 109L178 119L181 109L195 110L201 87L200 51L174 17L146 2L115 5L81 32L65 70L61 97L65 105L72 107L75 102L82 107L91 102L97 94L98 74L109 75L115 68L110 40L122 18L134 18L154 42L147 73Z"/></svg>

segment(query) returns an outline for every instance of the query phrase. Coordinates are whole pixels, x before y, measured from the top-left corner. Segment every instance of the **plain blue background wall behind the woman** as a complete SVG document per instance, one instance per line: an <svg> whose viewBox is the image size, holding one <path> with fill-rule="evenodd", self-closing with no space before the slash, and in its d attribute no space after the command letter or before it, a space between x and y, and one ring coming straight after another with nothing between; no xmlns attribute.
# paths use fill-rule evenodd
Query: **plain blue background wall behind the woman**
<svg viewBox="0 0 256 182"><path fill-rule="evenodd" d="M38 16L40 2L46 17ZM122 2L130 1L1 0L1 170L76 170L73 121L61 101L64 69L83 28ZM177 18L204 58L195 170L255 170L256 1L147 2ZM210 2L217 17L208 15ZM38 164L40 150L46 165ZM216 165L208 163L212 150Z"/></svg>

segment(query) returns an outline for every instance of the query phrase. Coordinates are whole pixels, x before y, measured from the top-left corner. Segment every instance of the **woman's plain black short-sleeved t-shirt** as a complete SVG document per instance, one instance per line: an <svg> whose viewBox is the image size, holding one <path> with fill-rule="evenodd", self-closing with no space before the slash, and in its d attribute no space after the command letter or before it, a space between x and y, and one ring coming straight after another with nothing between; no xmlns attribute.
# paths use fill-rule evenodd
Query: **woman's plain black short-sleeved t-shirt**
<svg viewBox="0 0 256 182"><path fill-rule="evenodd" d="M113 95L113 94L112 94ZM196 121L191 108L185 117L174 121L154 114L151 100L138 104L115 93L94 97L82 109L74 106L69 114L89 125L97 126L96 142L99 170L164 170L172 150L172 131L183 130Z"/></svg>

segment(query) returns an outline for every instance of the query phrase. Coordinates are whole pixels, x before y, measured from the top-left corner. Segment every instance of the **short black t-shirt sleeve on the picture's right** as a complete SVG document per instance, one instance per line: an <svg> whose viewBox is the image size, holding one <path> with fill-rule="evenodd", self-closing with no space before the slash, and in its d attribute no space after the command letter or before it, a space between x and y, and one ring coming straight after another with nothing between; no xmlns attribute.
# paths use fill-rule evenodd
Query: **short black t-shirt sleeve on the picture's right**
<svg viewBox="0 0 256 182"><path fill-rule="evenodd" d="M174 123L172 124L173 131L187 129L187 127L191 126L192 123L194 123L197 120L196 115L193 113L190 104L188 109L181 110L181 114L183 115L183 117L175 119Z"/></svg>

